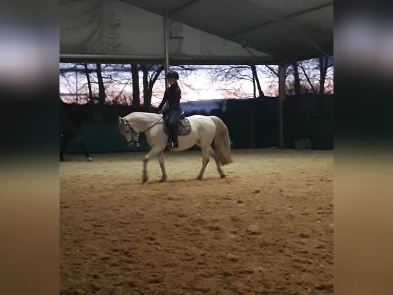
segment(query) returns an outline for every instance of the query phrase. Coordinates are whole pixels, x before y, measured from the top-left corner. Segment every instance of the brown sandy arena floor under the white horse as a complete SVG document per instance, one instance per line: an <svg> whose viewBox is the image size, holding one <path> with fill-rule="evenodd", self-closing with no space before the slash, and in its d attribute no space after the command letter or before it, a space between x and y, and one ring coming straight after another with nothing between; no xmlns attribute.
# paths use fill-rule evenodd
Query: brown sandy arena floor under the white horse
<svg viewBox="0 0 393 295"><path fill-rule="evenodd" d="M61 294L333 294L333 153L66 155Z"/></svg>

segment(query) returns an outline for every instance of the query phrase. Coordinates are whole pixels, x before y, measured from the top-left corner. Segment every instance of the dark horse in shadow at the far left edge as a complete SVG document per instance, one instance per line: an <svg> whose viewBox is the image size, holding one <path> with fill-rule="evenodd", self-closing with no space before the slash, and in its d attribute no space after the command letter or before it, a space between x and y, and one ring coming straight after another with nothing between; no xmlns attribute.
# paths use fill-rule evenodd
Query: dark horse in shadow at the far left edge
<svg viewBox="0 0 393 295"><path fill-rule="evenodd" d="M64 161L64 153L70 142L80 144L88 161L91 161L82 139L82 125L102 119L98 106L93 102L87 104L69 104L60 99L60 160Z"/></svg>

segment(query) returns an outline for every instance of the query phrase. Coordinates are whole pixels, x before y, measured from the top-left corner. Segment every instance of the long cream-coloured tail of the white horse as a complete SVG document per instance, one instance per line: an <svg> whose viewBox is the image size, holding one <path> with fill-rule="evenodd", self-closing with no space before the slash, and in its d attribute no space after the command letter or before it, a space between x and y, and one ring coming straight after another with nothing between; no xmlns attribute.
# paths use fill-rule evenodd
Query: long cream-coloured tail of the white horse
<svg viewBox="0 0 393 295"><path fill-rule="evenodd" d="M222 165L233 162L230 153L230 138L227 126L216 116L209 116L215 124L214 153Z"/></svg>

